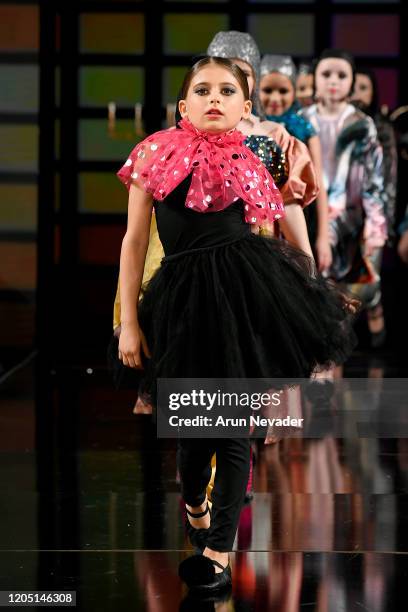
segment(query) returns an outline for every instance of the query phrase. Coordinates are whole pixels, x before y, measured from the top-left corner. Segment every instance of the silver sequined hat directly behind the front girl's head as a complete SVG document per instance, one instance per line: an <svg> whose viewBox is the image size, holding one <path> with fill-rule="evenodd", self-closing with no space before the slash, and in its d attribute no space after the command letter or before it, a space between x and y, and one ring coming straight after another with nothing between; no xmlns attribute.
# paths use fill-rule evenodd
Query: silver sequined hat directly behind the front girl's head
<svg viewBox="0 0 408 612"><path fill-rule="evenodd" d="M250 34L236 32L235 30L218 32L208 45L207 54L247 62L252 66L258 81L261 55L258 45Z"/></svg>

